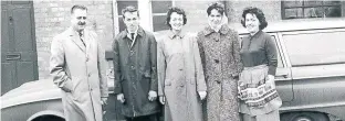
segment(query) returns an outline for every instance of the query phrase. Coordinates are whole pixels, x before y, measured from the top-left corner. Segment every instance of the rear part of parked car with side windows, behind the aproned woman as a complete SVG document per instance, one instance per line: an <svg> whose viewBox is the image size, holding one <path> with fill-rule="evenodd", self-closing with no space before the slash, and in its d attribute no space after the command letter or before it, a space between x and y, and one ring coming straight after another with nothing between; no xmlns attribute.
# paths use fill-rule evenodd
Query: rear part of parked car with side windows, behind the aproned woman
<svg viewBox="0 0 345 121"><path fill-rule="evenodd" d="M243 26L232 26L247 34ZM269 22L264 31L278 47L281 121L345 120L345 20Z"/></svg>

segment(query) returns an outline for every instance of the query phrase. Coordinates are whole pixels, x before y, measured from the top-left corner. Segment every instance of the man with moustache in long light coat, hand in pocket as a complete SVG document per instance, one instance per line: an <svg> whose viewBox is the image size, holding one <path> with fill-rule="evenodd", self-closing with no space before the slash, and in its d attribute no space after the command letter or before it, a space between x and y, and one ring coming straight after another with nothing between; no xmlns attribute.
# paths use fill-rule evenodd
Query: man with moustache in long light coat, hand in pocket
<svg viewBox="0 0 345 121"><path fill-rule="evenodd" d="M87 9L71 9L72 25L51 45L50 73L62 90L66 121L102 121L108 97L105 57L97 35L85 29Z"/></svg>

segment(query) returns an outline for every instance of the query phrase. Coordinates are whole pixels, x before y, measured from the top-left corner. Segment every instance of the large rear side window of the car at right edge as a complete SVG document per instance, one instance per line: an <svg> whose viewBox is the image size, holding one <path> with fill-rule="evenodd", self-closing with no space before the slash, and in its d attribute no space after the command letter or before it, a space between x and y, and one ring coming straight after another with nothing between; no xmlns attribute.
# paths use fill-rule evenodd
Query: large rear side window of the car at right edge
<svg viewBox="0 0 345 121"><path fill-rule="evenodd" d="M345 31L285 34L292 66L345 63Z"/></svg>

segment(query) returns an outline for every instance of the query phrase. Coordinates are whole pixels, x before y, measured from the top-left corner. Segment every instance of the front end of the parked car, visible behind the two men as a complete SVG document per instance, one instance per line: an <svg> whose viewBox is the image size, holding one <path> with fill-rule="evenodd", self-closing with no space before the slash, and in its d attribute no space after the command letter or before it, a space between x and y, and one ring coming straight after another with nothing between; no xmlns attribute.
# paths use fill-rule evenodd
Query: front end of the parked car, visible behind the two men
<svg viewBox="0 0 345 121"><path fill-rule="evenodd" d="M114 90L114 81L108 81ZM1 121L65 121L61 101L61 89L52 79L30 81L10 90L1 97ZM105 107L104 121L123 117L116 112L115 97L111 91Z"/></svg>

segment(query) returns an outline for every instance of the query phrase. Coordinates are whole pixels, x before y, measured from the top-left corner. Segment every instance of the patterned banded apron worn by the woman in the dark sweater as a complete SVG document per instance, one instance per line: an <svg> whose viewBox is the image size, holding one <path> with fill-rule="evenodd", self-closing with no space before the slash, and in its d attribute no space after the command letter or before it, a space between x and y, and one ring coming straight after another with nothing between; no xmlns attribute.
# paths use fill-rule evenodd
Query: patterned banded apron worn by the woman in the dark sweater
<svg viewBox="0 0 345 121"><path fill-rule="evenodd" d="M244 67L238 84L240 112L259 116L278 110L282 100L276 92L274 82L266 82L269 67L259 65Z"/></svg>

